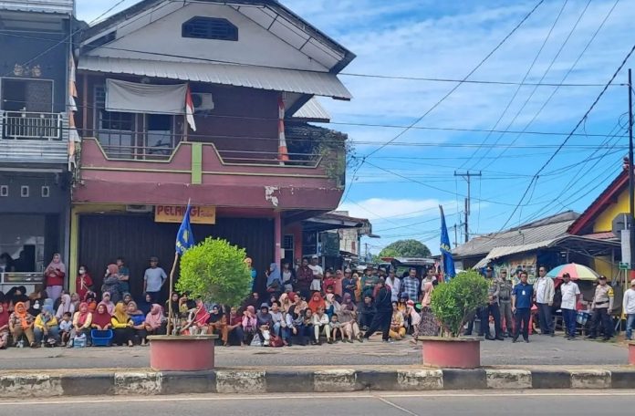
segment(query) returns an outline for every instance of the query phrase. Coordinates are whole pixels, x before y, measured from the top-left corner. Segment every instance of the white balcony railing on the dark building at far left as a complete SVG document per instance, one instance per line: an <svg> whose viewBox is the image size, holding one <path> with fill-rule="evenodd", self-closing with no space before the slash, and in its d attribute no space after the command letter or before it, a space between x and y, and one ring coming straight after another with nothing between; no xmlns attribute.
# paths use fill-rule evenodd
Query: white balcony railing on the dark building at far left
<svg viewBox="0 0 635 416"><path fill-rule="evenodd" d="M61 113L0 111L2 139L62 140L63 126Z"/></svg>

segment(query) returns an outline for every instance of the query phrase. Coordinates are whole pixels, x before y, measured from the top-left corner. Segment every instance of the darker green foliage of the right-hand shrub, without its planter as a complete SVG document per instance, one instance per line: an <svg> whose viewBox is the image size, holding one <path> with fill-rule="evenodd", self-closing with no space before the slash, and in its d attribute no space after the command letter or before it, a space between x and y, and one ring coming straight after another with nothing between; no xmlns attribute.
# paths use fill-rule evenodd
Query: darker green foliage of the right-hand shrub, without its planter
<svg viewBox="0 0 635 416"><path fill-rule="evenodd" d="M462 272L434 288L430 307L445 332L451 337L461 335L474 311L487 304L487 289L484 277L474 271Z"/></svg>

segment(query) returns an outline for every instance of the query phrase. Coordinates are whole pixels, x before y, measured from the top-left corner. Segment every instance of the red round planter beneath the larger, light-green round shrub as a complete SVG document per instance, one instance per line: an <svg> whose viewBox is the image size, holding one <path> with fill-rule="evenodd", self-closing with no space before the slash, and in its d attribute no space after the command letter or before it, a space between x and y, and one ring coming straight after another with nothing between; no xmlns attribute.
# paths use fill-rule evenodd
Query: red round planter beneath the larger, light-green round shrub
<svg viewBox="0 0 635 416"><path fill-rule="evenodd" d="M213 369L216 335L156 335L150 340L150 366L159 371L202 371Z"/></svg>

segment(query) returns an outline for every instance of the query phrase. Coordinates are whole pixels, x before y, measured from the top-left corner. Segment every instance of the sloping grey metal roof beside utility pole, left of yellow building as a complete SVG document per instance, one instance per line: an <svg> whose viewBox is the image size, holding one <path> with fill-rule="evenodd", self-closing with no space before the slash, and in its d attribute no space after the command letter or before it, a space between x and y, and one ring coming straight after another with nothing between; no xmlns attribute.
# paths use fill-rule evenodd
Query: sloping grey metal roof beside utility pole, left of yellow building
<svg viewBox="0 0 635 416"><path fill-rule="evenodd" d="M576 214L577 215L577 214ZM571 215L565 218L570 218ZM551 217L554 221L561 219L562 216ZM548 219L546 219L548 220ZM503 233L487 234L480 237L476 237L473 240L461 244L453 250L453 255L456 257L470 257L473 255L486 255L497 248L504 247L525 247L528 244L549 244L559 237L567 235L568 227L573 224L574 219L568 219L566 221L557 221L549 223L548 221L541 221L540 225L527 227L518 227L512 230L507 230ZM547 242L547 243L546 243ZM539 246L537 248L539 248ZM535 247L536 248L536 247ZM522 249L522 251L529 251L533 248ZM519 250L516 248L515 250ZM516 251L515 253L520 253Z"/></svg>

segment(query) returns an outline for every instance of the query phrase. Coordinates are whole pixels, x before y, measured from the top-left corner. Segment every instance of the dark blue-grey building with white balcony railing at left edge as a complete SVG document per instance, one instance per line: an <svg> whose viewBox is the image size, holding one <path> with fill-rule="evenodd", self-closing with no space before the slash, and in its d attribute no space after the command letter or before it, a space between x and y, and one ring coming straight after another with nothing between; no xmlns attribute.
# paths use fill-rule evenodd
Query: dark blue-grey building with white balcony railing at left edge
<svg viewBox="0 0 635 416"><path fill-rule="evenodd" d="M0 273L41 276L68 257L73 16L73 0L0 1Z"/></svg>

